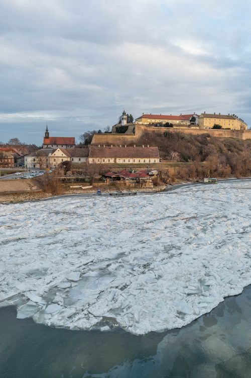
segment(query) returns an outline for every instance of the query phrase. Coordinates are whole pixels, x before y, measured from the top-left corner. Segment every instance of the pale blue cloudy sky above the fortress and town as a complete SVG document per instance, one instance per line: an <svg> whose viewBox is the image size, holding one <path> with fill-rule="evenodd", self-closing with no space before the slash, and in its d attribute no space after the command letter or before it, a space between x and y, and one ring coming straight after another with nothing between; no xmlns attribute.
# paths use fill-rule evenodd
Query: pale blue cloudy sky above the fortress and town
<svg viewBox="0 0 251 378"><path fill-rule="evenodd" d="M42 144L123 109L251 126L250 0L0 0L0 141Z"/></svg>

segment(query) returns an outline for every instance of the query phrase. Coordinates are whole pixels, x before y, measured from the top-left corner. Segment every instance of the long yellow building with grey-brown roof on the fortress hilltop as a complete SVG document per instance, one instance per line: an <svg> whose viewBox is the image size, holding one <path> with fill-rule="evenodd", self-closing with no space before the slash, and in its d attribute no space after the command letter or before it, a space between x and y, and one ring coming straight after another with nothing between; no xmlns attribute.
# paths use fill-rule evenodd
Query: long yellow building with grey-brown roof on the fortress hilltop
<svg viewBox="0 0 251 378"><path fill-rule="evenodd" d="M202 113L199 116L199 128L212 129L214 125L220 125L222 129L246 130L247 124L235 114L208 114Z"/></svg>

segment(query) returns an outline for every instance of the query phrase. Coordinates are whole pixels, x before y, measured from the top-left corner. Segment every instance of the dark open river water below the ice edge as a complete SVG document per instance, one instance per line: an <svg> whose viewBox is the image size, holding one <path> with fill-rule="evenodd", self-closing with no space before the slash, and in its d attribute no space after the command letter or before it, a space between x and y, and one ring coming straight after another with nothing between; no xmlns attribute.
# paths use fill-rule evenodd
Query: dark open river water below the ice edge
<svg viewBox="0 0 251 378"><path fill-rule="evenodd" d="M251 286L179 330L70 331L0 309L1 378L250 378Z"/></svg>

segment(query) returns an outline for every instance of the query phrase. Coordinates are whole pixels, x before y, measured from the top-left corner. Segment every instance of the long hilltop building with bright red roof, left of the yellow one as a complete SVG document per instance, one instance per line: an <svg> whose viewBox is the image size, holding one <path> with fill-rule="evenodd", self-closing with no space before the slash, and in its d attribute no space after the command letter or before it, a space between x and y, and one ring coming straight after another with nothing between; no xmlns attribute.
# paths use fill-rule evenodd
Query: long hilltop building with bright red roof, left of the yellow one
<svg viewBox="0 0 251 378"><path fill-rule="evenodd" d="M195 121L191 121L192 118ZM199 116L198 114L180 114L179 116L162 115L162 114L144 114L141 117L136 118L136 124L150 125L150 124L165 124L167 122L175 125L187 125L198 124Z"/></svg>

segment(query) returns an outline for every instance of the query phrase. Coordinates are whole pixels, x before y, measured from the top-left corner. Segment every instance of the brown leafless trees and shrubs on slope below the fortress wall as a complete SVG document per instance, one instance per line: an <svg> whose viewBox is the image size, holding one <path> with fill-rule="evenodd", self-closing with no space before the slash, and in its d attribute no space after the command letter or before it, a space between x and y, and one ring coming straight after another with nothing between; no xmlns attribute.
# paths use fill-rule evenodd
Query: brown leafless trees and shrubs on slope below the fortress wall
<svg viewBox="0 0 251 378"><path fill-rule="evenodd" d="M215 138L209 134L145 133L138 145L158 146L165 160L193 162L182 175L203 178L251 175L251 140ZM201 162L204 162L203 164ZM176 172L177 174L177 172Z"/></svg>

